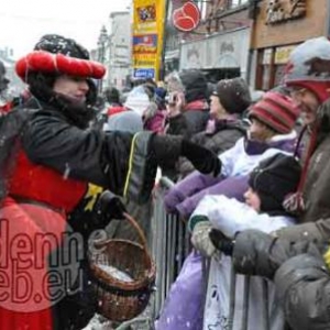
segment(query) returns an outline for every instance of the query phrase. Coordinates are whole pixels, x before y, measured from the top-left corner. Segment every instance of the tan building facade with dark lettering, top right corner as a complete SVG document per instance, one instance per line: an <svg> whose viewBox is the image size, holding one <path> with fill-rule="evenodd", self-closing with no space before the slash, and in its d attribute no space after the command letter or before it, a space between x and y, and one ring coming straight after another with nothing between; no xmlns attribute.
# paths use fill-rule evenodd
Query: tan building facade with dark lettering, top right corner
<svg viewBox="0 0 330 330"><path fill-rule="evenodd" d="M268 90L282 82L290 52L329 35L329 0L264 0L251 36L250 85Z"/></svg>

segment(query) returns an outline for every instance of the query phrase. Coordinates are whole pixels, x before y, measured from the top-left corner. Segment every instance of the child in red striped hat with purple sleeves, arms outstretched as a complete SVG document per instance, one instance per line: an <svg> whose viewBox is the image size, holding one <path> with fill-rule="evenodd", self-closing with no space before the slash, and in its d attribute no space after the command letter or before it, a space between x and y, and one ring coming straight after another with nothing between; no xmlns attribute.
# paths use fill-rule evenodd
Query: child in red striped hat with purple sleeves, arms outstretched
<svg viewBox="0 0 330 330"><path fill-rule="evenodd" d="M189 219L206 195L229 194L240 199L246 189L248 175L258 162L278 152L294 153L297 138L294 129L299 112L290 98L275 91L265 94L249 110L248 138L241 138L220 154L221 175L215 178L193 172L165 196L167 210Z"/></svg>

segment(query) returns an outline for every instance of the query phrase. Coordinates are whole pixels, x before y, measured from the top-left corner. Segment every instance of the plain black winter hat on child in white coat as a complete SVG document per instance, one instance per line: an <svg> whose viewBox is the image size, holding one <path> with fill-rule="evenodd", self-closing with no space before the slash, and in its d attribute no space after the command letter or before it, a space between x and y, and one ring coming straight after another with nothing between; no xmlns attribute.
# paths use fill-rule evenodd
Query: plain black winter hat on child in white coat
<svg viewBox="0 0 330 330"><path fill-rule="evenodd" d="M301 174L299 162L278 153L260 163L250 174L249 185L261 199L261 211L285 213L283 201L297 190Z"/></svg>

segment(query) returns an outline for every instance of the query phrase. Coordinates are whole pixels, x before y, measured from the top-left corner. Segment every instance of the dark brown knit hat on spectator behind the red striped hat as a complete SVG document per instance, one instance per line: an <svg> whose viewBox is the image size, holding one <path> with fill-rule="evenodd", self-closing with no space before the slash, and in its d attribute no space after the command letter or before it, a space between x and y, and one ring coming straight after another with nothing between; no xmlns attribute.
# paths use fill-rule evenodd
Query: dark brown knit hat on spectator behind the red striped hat
<svg viewBox="0 0 330 330"><path fill-rule="evenodd" d="M249 86L243 78L220 80L213 95L219 97L228 113L242 113L251 105Z"/></svg>

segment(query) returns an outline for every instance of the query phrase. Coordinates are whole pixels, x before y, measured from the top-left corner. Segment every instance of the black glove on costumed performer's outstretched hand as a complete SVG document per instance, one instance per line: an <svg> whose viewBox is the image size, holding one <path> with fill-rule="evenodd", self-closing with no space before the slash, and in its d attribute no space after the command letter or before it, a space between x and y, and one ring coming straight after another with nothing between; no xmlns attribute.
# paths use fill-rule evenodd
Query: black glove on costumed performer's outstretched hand
<svg viewBox="0 0 330 330"><path fill-rule="evenodd" d="M218 176L221 170L221 162L213 152L188 140L183 140L182 155L200 173Z"/></svg>

